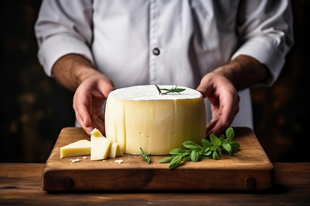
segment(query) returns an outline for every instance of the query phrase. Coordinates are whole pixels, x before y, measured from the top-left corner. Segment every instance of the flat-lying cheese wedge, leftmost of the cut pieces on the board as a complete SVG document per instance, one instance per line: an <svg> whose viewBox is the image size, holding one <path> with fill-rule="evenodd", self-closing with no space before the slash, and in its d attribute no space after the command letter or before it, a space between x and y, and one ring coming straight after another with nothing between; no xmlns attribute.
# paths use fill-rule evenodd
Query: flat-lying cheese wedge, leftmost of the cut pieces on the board
<svg viewBox="0 0 310 206"><path fill-rule="evenodd" d="M60 147L60 158L75 157L91 154L91 142L81 139L68 145Z"/></svg>

